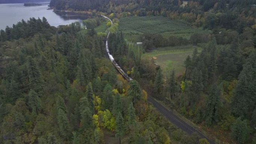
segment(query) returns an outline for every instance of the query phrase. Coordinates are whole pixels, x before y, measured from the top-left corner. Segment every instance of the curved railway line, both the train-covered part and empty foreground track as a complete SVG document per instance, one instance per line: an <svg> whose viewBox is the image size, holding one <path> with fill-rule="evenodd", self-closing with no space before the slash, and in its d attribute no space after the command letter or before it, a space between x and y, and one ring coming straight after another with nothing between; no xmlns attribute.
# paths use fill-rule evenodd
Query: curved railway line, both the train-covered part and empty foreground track
<svg viewBox="0 0 256 144"><path fill-rule="evenodd" d="M111 25L113 25L113 22L110 18L108 18L107 16L101 15L106 19L109 19L109 21L111 22ZM132 81L133 79L131 77L128 76L127 73L124 72L124 70L122 70L122 68L116 63L114 57L110 54L109 51L109 46L108 46L108 39L109 39L109 34L110 32L108 32L107 34L107 38L106 38L106 51L107 54L109 56L110 61L112 62L112 64L116 67L116 69L118 70L118 72L128 81ZM186 123L184 120L180 119L178 116L176 116L172 111L167 110L164 106L162 106L161 104L159 104L157 101L155 101L154 98L152 98L151 96L148 96L148 101L150 103L152 103L152 105L161 113L163 114L171 123L173 123L174 125L176 125L178 128L182 129L183 131L185 131L188 134L193 134L193 133L197 133L201 138L205 138L208 140L208 142L210 144L215 144L214 141L210 140L209 138L205 137L201 132L199 132L198 130L196 130L195 128L193 128L191 125L189 125L188 123Z"/></svg>

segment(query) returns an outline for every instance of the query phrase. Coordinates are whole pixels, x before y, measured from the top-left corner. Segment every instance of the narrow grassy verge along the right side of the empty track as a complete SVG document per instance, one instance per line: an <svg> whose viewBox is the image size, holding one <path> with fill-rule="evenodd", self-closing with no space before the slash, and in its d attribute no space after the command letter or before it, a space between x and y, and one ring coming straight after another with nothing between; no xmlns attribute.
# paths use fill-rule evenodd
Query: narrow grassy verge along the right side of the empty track
<svg viewBox="0 0 256 144"><path fill-rule="evenodd" d="M155 98L154 98L155 99ZM167 106L166 104L164 104L164 102L159 101L157 99L155 99L155 101L157 101L159 104L161 104L163 107L165 107L167 110L172 111L176 116L178 116L180 119L182 119L184 122L186 122L188 125L192 126L193 128L195 128L197 131L199 131L202 135L204 135L207 138L210 138L212 140L214 140L214 142L216 144L221 144L220 140L218 140L215 137L212 137L212 135L209 135L204 129L203 127L200 127L198 125L196 125L195 123L191 122L189 119L187 119L186 117L182 116L180 113L178 113L176 110L171 109L169 106Z"/></svg>

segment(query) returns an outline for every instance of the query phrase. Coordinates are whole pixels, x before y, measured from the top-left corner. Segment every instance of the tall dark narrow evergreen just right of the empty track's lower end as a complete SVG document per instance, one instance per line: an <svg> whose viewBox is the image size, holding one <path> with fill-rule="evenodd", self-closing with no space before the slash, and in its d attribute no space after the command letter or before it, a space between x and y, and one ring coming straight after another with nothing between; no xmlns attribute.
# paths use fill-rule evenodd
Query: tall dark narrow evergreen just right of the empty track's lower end
<svg viewBox="0 0 256 144"><path fill-rule="evenodd" d="M212 125L213 121L219 121L220 112L220 89L214 84L211 88L210 95L207 97L207 105L205 110L205 122Z"/></svg>

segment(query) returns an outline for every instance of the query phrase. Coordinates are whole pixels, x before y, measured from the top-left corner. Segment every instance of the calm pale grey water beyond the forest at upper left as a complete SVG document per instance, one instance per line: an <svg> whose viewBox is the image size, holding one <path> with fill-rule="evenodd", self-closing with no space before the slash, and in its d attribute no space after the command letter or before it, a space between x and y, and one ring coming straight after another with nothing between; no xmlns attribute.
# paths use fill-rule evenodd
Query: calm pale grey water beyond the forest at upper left
<svg viewBox="0 0 256 144"><path fill-rule="evenodd" d="M71 24L72 22L82 20L76 16L57 15L53 10L47 10L49 3L42 3L42 6L23 6L23 3L18 4L0 4L0 29L5 29L6 26L12 27L18 21L29 18L45 17L49 24L57 27L58 25Z"/></svg>

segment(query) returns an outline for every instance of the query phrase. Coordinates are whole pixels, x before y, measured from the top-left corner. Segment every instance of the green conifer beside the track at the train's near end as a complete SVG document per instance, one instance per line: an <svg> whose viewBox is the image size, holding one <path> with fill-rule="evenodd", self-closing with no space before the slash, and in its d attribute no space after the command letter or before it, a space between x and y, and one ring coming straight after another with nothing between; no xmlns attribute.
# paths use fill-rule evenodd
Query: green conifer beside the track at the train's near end
<svg viewBox="0 0 256 144"><path fill-rule="evenodd" d="M128 96L132 98L132 103L135 101L140 101L141 99L141 89L140 84L136 80L129 82L130 88L128 89Z"/></svg>

